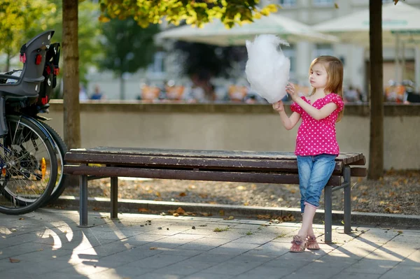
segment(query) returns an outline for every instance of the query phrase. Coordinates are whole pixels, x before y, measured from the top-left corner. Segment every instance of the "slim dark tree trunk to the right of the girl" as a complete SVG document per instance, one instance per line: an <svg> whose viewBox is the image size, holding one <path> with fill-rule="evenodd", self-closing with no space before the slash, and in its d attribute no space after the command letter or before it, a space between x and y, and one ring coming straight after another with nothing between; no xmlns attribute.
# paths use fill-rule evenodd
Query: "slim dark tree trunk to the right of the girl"
<svg viewBox="0 0 420 279"><path fill-rule="evenodd" d="M370 0L370 146L367 179L384 175L384 58L382 2Z"/></svg>

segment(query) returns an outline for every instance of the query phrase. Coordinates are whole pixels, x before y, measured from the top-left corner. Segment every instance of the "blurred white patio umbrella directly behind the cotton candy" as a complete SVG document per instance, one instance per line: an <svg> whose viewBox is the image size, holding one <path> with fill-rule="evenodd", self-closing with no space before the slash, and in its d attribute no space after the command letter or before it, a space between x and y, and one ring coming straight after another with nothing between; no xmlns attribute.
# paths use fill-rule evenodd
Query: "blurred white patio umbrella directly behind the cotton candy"
<svg viewBox="0 0 420 279"><path fill-rule="evenodd" d="M229 46L245 45L246 40L252 40L259 34L276 34L289 43L302 40L319 43L339 41L335 36L318 33L302 22L276 14L261 17L259 20L235 26L232 29L226 29L220 20L204 24L203 28L191 27L190 25L176 27L160 32L155 38L157 41L173 38L179 41Z"/></svg>

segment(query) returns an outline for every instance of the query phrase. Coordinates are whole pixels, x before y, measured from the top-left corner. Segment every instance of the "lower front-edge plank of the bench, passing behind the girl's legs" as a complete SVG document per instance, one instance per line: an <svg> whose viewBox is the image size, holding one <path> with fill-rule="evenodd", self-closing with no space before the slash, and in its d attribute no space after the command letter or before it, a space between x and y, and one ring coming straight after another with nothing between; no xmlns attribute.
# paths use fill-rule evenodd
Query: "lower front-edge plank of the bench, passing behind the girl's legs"
<svg viewBox="0 0 420 279"><path fill-rule="evenodd" d="M239 171L193 171L174 169L139 169L118 166L71 166L66 165L64 173L76 176L104 176L104 177L135 177L135 178L160 178L180 180L209 180L230 181L242 183L275 183L299 184L297 174L285 173L258 173ZM341 185L341 176L332 176L327 185Z"/></svg>

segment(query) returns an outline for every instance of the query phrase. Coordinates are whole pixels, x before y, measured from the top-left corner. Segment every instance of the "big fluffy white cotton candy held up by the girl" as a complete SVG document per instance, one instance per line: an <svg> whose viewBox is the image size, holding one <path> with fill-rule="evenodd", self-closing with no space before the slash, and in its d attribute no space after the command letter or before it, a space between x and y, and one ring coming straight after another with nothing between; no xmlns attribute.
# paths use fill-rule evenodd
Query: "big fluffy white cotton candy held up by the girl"
<svg viewBox="0 0 420 279"><path fill-rule="evenodd" d="M284 56L280 44L289 45L269 34L256 36L253 42L246 41L246 78L251 88L269 103L280 101L286 96L290 60Z"/></svg>

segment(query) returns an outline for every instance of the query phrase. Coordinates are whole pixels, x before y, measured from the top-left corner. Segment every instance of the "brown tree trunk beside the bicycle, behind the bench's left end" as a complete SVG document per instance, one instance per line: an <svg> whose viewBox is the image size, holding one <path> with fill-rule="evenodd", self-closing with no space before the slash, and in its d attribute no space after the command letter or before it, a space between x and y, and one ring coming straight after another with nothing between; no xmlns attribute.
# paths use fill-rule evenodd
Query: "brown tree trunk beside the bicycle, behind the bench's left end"
<svg viewBox="0 0 420 279"><path fill-rule="evenodd" d="M62 0L62 4L64 141L67 148L80 148L78 1Z"/></svg>

